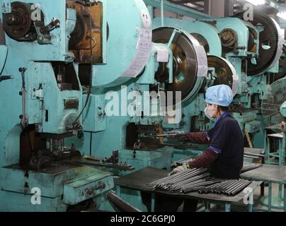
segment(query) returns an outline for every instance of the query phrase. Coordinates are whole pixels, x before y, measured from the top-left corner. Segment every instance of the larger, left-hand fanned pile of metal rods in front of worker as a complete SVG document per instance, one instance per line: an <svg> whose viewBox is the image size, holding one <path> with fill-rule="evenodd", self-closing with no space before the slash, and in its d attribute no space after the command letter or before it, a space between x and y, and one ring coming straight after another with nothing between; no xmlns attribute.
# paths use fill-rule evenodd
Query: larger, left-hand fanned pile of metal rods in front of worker
<svg viewBox="0 0 286 226"><path fill-rule="evenodd" d="M210 173L207 172L207 169L201 168L186 169L182 172L178 172L177 174L151 182L148 185L159 191L189 193L222 181L222 179L210 177Z"/></svg>

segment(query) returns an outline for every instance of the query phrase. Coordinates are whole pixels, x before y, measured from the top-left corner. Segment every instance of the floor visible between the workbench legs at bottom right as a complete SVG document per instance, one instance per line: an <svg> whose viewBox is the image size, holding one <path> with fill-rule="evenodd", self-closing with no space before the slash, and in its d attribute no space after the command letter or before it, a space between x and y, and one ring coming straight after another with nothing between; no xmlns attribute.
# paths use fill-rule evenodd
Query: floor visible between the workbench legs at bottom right
<svg viewBox="0 0 286 226"><path fill-rule="evenodd" d="M273 197L274 196L278 196L278 184L273 184L272 186L272 194L273 194ZM268 186L265 186L265 189L264 189L264 194L265 196L268 196ZM262 209L262 210L265 210L267 211L268 210L268 207L267 206L263 206L261 205L261 189L258 187L255 191L254 191L254 205L253 207L254 208L259 208L259 209ZM201 206L202 203L199 203L198 206ZM181 212L182 211L182 207L181 206L180 208L178 208L178 211ZM201 207L198 212L204 212L205 211L205 207ZM217 205L214 205L214 204L211 204L210 206L210 211L211 212L223 212L224 211L224 206L217 206ZM248 211L248 207L244 204L243 201L239 202L239 203L235 203L235 204L232 204L231 205L231 212L247 212ZM257 211L257 210L253 210L253 211ZM282 212L283 210L281 209L272 209L272 212ZM262 212L262 211L261 211Z"/></svg>

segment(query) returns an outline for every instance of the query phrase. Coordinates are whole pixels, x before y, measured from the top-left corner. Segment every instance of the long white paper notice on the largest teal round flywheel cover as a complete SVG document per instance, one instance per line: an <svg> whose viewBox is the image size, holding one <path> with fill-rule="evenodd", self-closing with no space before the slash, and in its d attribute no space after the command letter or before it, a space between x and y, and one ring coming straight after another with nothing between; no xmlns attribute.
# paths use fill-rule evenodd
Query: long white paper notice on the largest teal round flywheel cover
<svg viewBox="0 0 286 226"><path fill-rule="evenodd" d="M128 69L121 77L136 78L147 64L152 49L152 30L140 28L136 54Z"/></svg>

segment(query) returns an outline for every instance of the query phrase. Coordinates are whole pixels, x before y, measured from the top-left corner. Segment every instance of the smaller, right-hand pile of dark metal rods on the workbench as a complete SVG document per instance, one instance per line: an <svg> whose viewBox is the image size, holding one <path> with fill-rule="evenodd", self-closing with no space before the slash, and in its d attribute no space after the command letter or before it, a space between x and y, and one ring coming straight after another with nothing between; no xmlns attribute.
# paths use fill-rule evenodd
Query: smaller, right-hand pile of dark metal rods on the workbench
<svg viewBox="0 0 286 226"><path fill-rule="evenodd" d="M246 188L251 184L251 182L246 181L244 179L230 179L226 180L219 184L214 184L211 186L207 186L204 189L200 189L200 194L225 194L227 196L236 196L236 194L239 194L242 190Z"/></svg>

